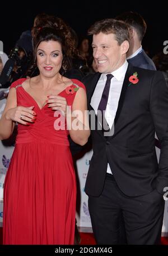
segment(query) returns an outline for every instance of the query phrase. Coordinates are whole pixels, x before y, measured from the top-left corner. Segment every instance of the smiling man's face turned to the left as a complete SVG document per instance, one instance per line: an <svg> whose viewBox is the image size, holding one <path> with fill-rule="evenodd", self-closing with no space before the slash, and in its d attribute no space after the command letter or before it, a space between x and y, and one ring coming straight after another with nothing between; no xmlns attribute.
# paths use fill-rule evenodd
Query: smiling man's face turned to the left
<svg viewBox="0 0 168 256"><path fill-rule="evenodd" d="M125 46L120 46L114 34L99 33L93 36L93 56L100 73L111 73L123 65L126 54Z"/></svg>

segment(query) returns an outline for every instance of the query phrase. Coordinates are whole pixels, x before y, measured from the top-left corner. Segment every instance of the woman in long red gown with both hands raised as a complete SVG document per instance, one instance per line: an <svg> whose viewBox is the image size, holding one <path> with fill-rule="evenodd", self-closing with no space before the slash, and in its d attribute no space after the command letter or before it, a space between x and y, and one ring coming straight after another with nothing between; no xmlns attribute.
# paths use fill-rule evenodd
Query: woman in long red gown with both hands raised
<svg viewBox="0 0 168 256"><path fill-rule="evenodd" d="M16 122L18 134L4 182L3 244L73 244L76 179L68 135L84 145L90 131L82 118L85 86L60 74L70 47L54 25L40 29L34 38L40 74L11 85L0 138L10 137ZM81 115L72 117L74 110Z"/></svg>

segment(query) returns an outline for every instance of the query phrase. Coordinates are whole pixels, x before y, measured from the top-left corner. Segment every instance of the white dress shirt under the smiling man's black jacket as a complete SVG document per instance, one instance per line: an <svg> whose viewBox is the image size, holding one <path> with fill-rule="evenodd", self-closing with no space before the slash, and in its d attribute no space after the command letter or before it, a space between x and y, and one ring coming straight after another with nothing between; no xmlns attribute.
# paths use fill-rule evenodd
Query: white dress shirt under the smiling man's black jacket
<svg viewBox="0 0 168 256"><path fill-rule="evenodd" d="M105 119L107 120L110 129L114 123L116 110L118 109L118 102L119 102L120 94L122 91L124 77L125 77L127 68L128 68L128 62L127 60L125 60L124 64L120 66L119 69L116 69L111 73L114 77L111 78L108 104L105 110ZM107 79L106 75L107 74L101 74L99 81L97 82L94 94L92 95L92 98L91 98L90 105L95 110L96 115L97 115L97 109L101 100L102 92L105 87L105 83ZM107 172L112 173L109 163L108 163Z"/></svg>

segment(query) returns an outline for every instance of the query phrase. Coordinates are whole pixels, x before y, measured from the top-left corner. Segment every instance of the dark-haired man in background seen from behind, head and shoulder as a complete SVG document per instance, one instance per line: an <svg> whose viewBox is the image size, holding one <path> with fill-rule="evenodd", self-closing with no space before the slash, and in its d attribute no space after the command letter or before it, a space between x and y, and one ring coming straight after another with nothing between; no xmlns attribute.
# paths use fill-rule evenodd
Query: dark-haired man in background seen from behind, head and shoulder
<svg viewBox="0 0 168 256"><path fill-rule="evenodd" d="M127 61L133 66L143 69L156 70L155 64L142 48L142 39L146 33L147 25L143 17L137 12L124 12L116 16L129 25L130 46L127 52Z"/></svg>

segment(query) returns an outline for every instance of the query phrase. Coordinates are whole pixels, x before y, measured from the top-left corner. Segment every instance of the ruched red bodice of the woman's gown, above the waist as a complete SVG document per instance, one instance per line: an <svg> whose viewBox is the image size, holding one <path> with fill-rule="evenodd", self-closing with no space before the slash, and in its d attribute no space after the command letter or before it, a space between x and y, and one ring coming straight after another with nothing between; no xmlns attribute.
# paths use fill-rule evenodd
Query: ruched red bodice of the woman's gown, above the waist
<svg viewBox="0 0 168 256"><path fill-rule="evenodd" d="M34 105L34 111L37 114L36 121L34 123L30 123L29 125L18 124L18 134L16 138L16 143L29 143L29 142L40 142L45 141L48 143L54 143L58 145L69 145L68 142L68 131L66 122L62 116L62 128L63 129L55 129L57 126L57 118L61 118L62 113L59 114L56 111L53 111L48 107L48 104L44 105L42 109L38 106L34 98L25 91L22 87L22 83L25 79L19 79L20 84L16 83L14 86L17 91L17 105L18 106L31 106ZM18 81L19 81L18 80ZM74 82L73 82L74 80ZM78 84L75 83L78 80L72 79L72 88L77 88ZM81 85L82 83L80 83ZM83 87L83 86L82 86ZM76 92L67 93L66 89L59 93L59 96L65 97L67 100L67 104L72 106L72 102ZM54 113L55 112L55 113Z"/></svg>

